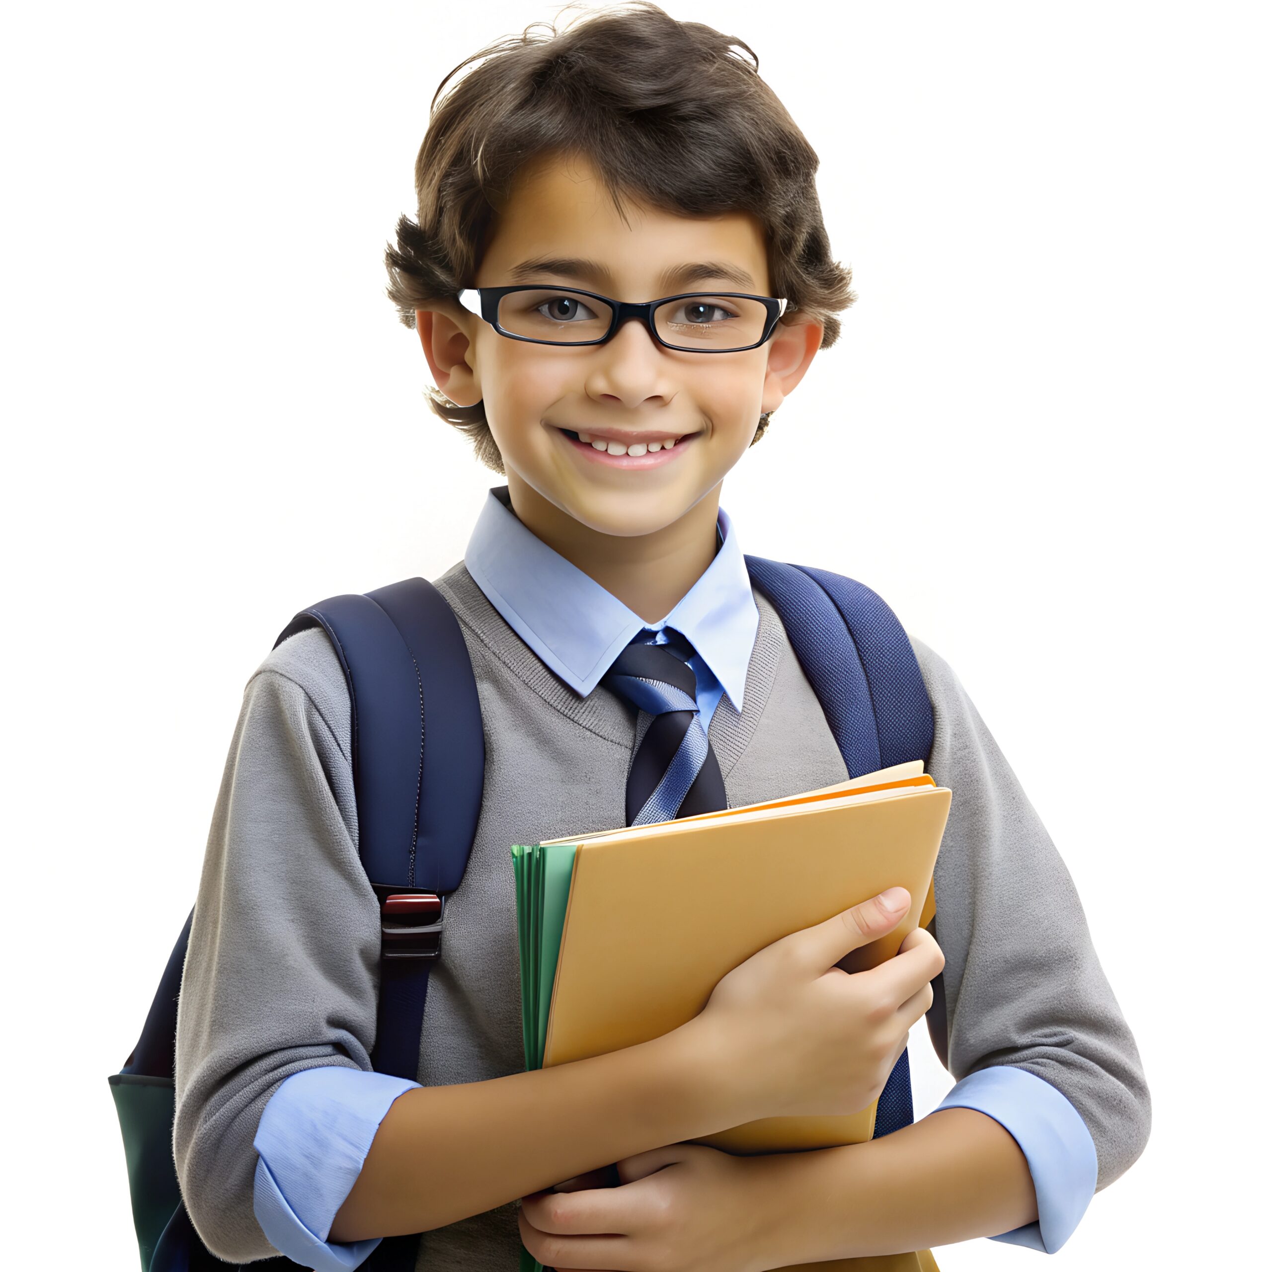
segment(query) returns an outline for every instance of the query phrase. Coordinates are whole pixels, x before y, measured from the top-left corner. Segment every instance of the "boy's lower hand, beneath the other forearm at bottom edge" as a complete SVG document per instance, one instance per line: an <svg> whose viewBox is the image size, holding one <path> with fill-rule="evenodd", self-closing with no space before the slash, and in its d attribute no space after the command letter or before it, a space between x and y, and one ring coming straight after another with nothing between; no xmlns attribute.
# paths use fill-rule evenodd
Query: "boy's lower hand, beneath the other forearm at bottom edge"
<svg viewBox="0 0 1272 1272"><path fill-rule="evenodd" d="M758 1160L703 1144L625 1158L617 1188L590 1170L523 1197L522 1241L546 1268L571 1272L762 1272Z"/></svg>

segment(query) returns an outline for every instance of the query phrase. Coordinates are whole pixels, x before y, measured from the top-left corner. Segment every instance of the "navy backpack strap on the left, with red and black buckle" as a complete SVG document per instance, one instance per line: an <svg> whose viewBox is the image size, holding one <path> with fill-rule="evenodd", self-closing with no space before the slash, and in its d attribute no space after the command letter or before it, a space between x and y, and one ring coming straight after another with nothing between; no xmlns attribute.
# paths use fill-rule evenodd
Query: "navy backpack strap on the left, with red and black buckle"
<svg viewBox="0 0 1272 1272"><path fill-rule="evenodd" d="M481 813L477 682L454 613L424 579L321 600L275 646L309 627L331 639L352 705L357 850L380 902L371 1065L413 1081L445 899L463 879ZM366 1267L411 1272L417 1248L417 1234L387 1238Z"/></svg>

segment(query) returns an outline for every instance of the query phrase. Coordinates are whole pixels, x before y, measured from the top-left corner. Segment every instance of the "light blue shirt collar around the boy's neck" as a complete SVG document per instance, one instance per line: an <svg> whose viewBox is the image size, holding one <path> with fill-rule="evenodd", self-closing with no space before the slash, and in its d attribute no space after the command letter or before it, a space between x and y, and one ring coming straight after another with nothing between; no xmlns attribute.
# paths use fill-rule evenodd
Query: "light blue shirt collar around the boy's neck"
<svg viewBox="0 0 1272 1272"><path fill-rule="evenodd" d="M759 612L736 532L724 509L722 542L697 583L661 621L646 623L599 583L534 537L490 492L473 527L464 565L508 625L576 693L586 696L642 628L674 627L701 655L742 710Z"/></svg>

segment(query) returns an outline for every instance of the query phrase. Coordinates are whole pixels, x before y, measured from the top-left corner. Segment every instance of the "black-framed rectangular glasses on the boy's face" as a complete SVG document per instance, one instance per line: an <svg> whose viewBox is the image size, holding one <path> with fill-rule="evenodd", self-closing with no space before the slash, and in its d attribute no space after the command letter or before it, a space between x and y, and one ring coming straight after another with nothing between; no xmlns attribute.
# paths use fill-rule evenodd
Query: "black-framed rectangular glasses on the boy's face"
<svg viewBox="0 0 1272 1272"><path fill-rule="evenodd" d="M683 291L628 304L577 287L473 287L459 303L501 336L536 345L603 345L630 318L668 349L693 354L736 354L763 345L786 301L740 291Z"/></svg>

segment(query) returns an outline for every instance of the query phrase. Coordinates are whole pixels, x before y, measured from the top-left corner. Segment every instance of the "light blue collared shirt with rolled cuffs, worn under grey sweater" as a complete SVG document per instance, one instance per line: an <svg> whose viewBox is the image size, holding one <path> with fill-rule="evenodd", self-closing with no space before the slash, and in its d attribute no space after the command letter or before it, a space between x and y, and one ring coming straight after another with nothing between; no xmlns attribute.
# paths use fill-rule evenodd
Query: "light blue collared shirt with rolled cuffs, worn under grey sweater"
<svg viewBox="0 0 1272 1272"><path fill-rule="evenodd" d="M536 538L491 491L464 565L490 603L542 661L588 695L644 628L673 628L695 649L703 728L722 696L742 710L759 613L738 537L721 509L720 547L698 581L660 622L646 623L617 597ZM378 1238L327 1236L393 1100L418 1086L347 1066L287 1077L266 1103L254 1147L253 1208L270 1243L319 1272L350 1272ZM1054 1253L1095 1192L1095 1144L1074 1105L1024 1068L995 1065L955 1084L940 1108L973 1108L1020 1145L1038 1197L1038 1220L993 1238Z"/></svg>

